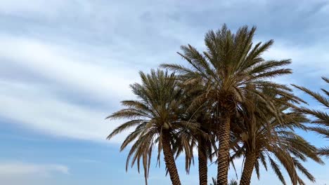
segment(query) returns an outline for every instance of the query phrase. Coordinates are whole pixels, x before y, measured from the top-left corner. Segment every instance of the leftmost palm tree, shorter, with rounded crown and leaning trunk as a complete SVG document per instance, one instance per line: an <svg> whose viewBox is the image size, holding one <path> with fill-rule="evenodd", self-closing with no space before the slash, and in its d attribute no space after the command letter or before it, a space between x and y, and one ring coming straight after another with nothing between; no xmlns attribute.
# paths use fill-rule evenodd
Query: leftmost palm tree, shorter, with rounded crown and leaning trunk
<svg viewBox="0 0 329 185"><path fill-rule="evenodd" d="M110 119L125 118L129 121L113 130L108 139L124 130L136 127L121 146L122 151L132 144L127 156L126 170L132 157L131 166L137 161L139 172L140 160L142 160L147 184L150 158L157 144L157 163L160 163L160 153L163 151L164 162L172 184L179 185L181 181L172 146L179 141L176 135L177 132L181 132L181 128L195 129L193 123L180 121L179 115L183 111L182 90L177 86L175 75L168 74L167 71L157 69L157 71L151 70L150 74L140 72L140 76L142 83L131 85L132 92L138 100L123 101L122 105L126 108L108 116Z"/></svg>

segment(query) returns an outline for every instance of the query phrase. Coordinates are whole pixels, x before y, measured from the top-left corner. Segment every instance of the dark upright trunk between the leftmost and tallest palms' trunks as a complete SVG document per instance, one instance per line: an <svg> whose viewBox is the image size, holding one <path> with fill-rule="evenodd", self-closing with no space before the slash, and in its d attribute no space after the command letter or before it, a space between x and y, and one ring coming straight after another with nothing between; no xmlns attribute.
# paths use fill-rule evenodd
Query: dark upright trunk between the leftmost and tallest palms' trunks
<svg viewBox="0 0 329 185"><path fill-rule="evenodd" d="M199 183L207 185L208 167L207 167L207 145L205 139L198 139L198 160L199 160Z"/></svg>

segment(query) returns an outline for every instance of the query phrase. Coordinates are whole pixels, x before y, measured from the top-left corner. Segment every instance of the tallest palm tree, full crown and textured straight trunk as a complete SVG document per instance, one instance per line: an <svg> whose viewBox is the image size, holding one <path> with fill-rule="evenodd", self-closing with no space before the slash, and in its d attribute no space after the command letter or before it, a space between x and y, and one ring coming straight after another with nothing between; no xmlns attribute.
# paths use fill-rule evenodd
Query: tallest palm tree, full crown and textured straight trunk
<svg viewBox="0 0 329 185"><path fill-rule="evenodd" d="M180 64L162 64L162 67L179 72L183 83L200 81L204 86L201 95L195 98L191 106L200 106L203 102L211 102L213 114L216 117L217 137L219 150L217 153L217 181L220 185L227 184L228 158L230 149L230 124L231 117L236 113L240 102L245 101L245 92L250 91L267 102L269 107L273 103L262 95L257 88L263 86L284 87L266 80L273 76L290 74L290 69L280 68L290 64L290 60L269 60L262 58L262 53L268 50L273 41L264 44L257 43L253 46L252 38L255 27L247 26L238 29L232 34L226 25L219 31L210 31L205 36L207 50L198 52L191 45L181 46L183 53L179 53L185 59L189 67ZM248 89L249 85L256 86L256 90ZM273 110L275 111L275 110Z"/></svg>

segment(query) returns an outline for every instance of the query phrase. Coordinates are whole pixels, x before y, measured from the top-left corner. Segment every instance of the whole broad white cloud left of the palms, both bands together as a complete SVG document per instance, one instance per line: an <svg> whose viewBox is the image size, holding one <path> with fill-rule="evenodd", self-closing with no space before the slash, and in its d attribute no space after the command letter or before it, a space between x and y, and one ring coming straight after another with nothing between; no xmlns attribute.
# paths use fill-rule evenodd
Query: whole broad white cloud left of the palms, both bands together
<svg viewBox="0 0 329 185"><path fill-rule="evenodd" d="M67 53L79 52L65 46L11 36L0 36L0 41L6 46L0 48L1 60L9 60L48 82L0 80L2 117L49 135L105 141L117 124L104 118L119 107L120 100L132 97L129 84L136 81L133 79L138 76L137 71L116 67L115 62L101 67L97 63L102 61L97 60L105 59L85 61L89 55L73 57ZM2 67L6 68L6 64ZM86 104L60 97L58 92L63 90L71 99L82 96ZM105 107L110 109L88 105L91 100L108 104ZM112 142L119 142L122 137L115 137Z"/></svg>

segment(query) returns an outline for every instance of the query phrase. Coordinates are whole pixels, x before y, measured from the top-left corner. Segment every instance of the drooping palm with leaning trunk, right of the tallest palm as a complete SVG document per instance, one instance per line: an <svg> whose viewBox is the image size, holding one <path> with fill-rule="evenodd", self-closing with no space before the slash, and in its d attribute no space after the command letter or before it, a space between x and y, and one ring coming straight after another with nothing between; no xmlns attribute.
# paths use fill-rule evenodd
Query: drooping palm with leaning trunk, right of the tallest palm
<svg viewBox="0 0 329 185"><path fill-rule="evenodd" d="M288 101L286 97L272 96L276 98L277 106L280 107L281 121L278 121L276 115L271 114L271 111L266 108L266 104L258 101L257 98L249 96L249 100L253 103L243 104L243 110L241 110L243 121L236 124L236 126L240 125L241 130L236 133L240 145L236 147L238 149L231 158L233 160L233 158L244 155L245 161L240 185L250 184L254 168L259 177L259 163L262 163L267 170L266 157L283 184L285 184L285 179L275 158L287 170L292 184L304 184L297 174L297 169L310 181L315 181L299 160L305 161L307 158L311 158L318 163L323 162L316 155L316 147L297 135L294 130L294 128L305 129L303 123L308 119L304 114L288 111L289 107L282 105L282 102ZM254 105L257 106L254 107Z"/></svg>

